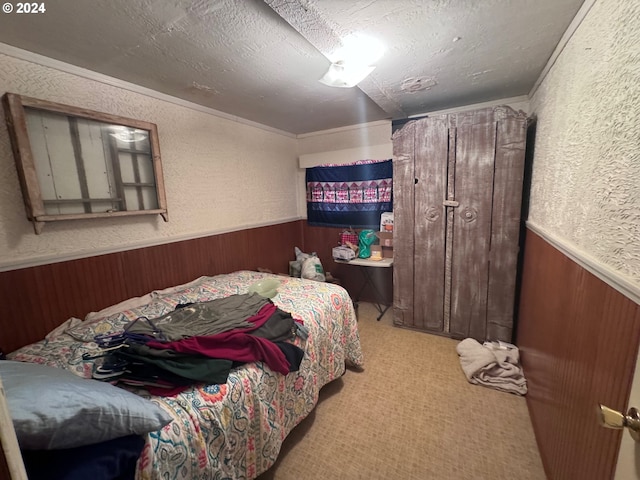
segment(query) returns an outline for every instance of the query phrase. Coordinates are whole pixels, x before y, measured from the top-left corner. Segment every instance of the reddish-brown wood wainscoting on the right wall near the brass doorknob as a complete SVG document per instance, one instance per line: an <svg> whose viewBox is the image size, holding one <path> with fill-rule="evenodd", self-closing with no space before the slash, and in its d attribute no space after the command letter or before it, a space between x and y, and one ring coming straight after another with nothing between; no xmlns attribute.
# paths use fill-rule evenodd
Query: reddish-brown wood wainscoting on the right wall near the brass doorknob
<svg viewBox="0 0 640 480"><path fill-rule="evenodd" d="M522 275L517 343L547 477L611 479L622 432L598 404L627 409L640 307L532 230Z"/></svg>

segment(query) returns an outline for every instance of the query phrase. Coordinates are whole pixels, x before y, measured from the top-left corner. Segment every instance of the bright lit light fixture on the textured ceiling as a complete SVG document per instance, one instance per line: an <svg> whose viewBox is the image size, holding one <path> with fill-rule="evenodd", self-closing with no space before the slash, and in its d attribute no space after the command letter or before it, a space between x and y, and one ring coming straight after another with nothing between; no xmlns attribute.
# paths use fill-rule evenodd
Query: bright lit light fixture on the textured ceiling
<svg viewBox="0 0 640 480"><path fill-rule="evenodd" d="M354 34L342 41L342 47L329 58L329 70L320 82L330 87L356 86L376 68L384 54L384 46L375 38Z"/></svg>

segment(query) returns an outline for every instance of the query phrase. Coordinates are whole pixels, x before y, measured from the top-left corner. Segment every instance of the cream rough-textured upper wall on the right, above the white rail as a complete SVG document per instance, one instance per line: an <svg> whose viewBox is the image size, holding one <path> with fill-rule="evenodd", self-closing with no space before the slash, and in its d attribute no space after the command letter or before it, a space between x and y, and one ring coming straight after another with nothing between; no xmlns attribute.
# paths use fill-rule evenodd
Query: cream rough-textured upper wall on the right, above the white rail
<svg viewBox="0 0 640 480"><path fill-rule="evenodd" d="M640 3L597 0L534 94L529 220L640 287Z"/></svg>

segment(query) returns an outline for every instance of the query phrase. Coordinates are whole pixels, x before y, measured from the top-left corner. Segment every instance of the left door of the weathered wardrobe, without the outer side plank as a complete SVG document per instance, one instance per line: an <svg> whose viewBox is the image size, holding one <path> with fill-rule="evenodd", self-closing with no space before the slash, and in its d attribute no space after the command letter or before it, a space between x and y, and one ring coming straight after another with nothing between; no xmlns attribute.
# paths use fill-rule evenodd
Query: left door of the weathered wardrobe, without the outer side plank
<svg viewBox="0 0 640 480"><path fill-rule="evenodd" d="M446 116L418 121L415 141L414 326L444 331L449 127Z"/></svg>

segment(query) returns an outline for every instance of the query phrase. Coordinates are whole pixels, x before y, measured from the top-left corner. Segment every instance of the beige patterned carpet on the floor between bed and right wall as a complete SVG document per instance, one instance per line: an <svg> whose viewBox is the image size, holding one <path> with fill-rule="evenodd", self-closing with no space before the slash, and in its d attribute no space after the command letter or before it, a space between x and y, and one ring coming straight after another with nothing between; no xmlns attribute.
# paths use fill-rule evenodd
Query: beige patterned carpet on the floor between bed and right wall
<svg viewBox="0 0 640 480"><path fill-rule="evenodd" d="M545 478L524 397L469 384L455 340L359 310L364 370L322 389L260 480Z"/></svg>

